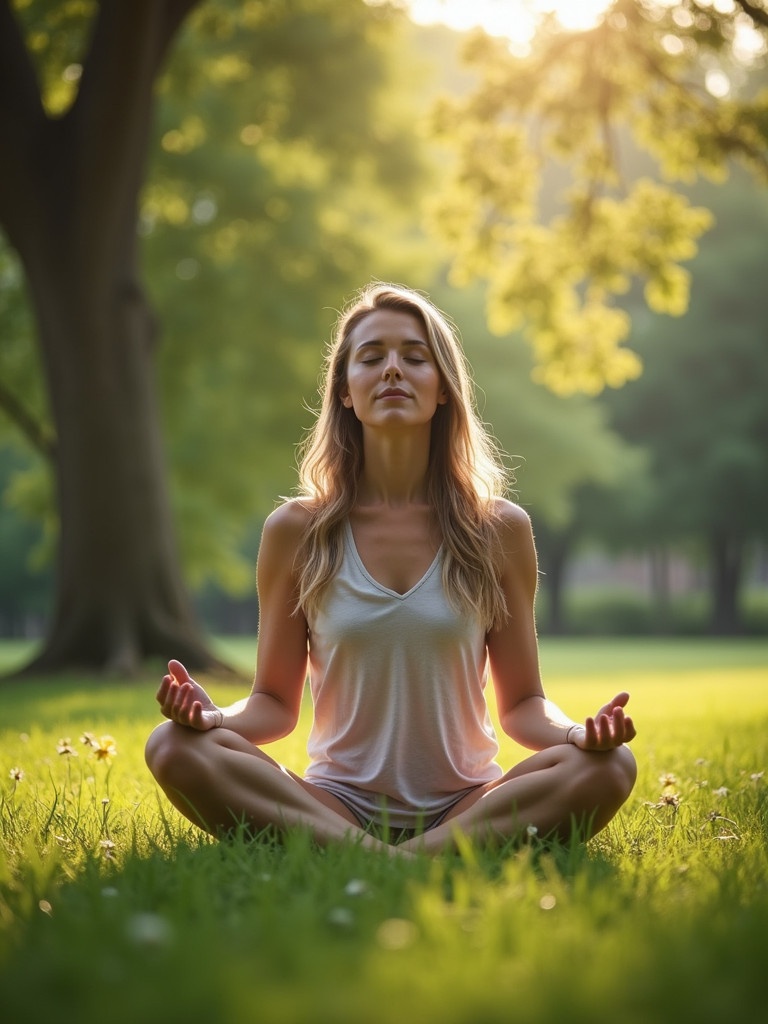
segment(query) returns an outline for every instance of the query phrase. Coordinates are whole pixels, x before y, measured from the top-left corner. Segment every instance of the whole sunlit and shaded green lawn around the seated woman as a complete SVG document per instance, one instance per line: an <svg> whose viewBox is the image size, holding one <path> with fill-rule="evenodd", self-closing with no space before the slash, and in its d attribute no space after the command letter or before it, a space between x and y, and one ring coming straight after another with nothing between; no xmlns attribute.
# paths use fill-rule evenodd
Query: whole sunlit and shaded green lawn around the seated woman
<svg viewBox="0 0 768 1024"><path fill-rule="evenodd" d="M244 672L253 647L222 645ZM0 647L0 663L25 653ZM542 662L550 694L577 716L631 690L640 775L625 810L586 848L468 848L413 862L356 846L318 851L302 834L284 848L198 834L143 767L155 677L4 684L0 1017L758 1017L768 642L549 641ZM220 700L243 692L211 689ZM117 755L99 760L83 731L112 735ZM77 756L57 753L68 737ZM304 733L271 752L300 770ZM505 763L519 756L505 744Z"/></svg>

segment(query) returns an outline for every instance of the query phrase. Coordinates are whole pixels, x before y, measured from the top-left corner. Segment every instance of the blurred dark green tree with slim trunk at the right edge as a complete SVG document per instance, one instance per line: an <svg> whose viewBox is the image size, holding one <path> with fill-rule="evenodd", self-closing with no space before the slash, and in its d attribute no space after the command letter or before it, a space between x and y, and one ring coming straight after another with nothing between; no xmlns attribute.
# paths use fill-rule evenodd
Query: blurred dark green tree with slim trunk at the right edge
<svg viewBox="0 0 768 1024"><path fill-rule="evenodd" d="M690 309L638 319L643 376L605 400L650 452L648 541L707 545L712 630L737 633L749 545L768 538L768 196L739 175L696 198L716 226L691 267Z"/></svg>

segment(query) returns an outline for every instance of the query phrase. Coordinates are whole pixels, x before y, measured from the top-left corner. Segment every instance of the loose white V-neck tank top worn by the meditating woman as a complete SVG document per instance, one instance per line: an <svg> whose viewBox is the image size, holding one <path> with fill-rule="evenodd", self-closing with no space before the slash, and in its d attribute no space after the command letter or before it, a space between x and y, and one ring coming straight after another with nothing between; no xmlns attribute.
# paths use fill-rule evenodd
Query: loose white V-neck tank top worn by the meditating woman
<svg viewBox="0 0 768 1024"><path fill-rule="evenodd" d="M442 588L440 552L406 594L377 583L344 531L309 622L314 722L306 778L364 820L429 824L502 774L485 703L485 631Z"/></svg>

